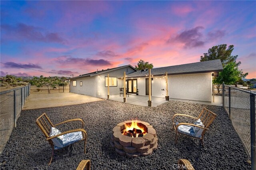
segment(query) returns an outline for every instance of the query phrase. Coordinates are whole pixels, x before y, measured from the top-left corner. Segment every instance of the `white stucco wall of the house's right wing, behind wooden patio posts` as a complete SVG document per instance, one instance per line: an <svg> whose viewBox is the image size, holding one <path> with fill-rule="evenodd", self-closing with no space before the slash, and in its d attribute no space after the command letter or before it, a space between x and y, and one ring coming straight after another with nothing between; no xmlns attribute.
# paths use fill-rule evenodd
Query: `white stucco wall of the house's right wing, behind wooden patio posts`
<svg viewBox="0 0 256 170"><path fill-rule="evenodd" d="M146 78L138 78L139 95L146 95ZM162 90L164 89L164 90ZM211 73L168 75L170 98L196 101L212 101ZM153 77L152 96L166 96L165 77Z"/></svg>

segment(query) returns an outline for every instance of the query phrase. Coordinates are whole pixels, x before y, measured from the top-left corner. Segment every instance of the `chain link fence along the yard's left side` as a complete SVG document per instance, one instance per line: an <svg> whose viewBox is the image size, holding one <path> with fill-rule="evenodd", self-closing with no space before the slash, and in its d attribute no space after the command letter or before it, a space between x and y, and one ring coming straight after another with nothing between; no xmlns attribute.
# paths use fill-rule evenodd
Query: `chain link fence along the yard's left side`
<svg viewBox="0 0 256 170"><path fill-rule="evenodd" d="M0 93L0 154L9 140L12 129L29 96L30 85Z"/></svg>

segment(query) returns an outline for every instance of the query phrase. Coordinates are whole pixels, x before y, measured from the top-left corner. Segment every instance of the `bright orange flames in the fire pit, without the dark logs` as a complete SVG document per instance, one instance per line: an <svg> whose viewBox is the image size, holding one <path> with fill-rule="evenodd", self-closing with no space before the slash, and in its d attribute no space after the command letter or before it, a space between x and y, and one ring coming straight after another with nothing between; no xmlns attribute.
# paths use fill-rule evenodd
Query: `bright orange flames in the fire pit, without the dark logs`
<svg viewBox="0 0 256 170"><path fill-rule="evenodd" d="M130 133L129 130L133 131L134 129L141 130L141 133L137 133L136 131L134 132L134 134L136 134L136 137L138 137L139 134L145 135L147 133L146 128L143 127L141 125L141 123L138 123L137 120L135 120L135 121L132 120L132 123L126 123L125 124L125 128L122 130L123 131L122 134L126 135L127 133ZM131 137L133 138L134 136L131 135Z"/></svg>

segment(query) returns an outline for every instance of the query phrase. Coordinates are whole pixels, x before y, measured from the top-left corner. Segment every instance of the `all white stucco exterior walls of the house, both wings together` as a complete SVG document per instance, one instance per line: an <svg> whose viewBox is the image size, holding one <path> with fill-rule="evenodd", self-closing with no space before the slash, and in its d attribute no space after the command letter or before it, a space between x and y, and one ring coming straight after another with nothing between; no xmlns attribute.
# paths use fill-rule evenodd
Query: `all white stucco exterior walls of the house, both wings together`
<svg viewBox="0 0 256 170"><path fill-rule="evenodd" d="M127 70L128 69L128 70ZM76 78L76 87L70 82L70 92L90 95L94 97L107 97L108 87L105 87L105 76L123 77L124 71L132 73L130 67L110 71L93 77ZM146 77L137 79L139 95L146 95ZM82 86L80 86L82 81ZM110 95L119 94L119 87L123 87L124 79L117 79L117 87L110 87ZM126 83L127 87L127 83ZM164 90L162 90L164 89ZM174 99L186 99L196 101L212 101L212 75L211 73L196 73L184 75L168 75L168 95ZM165 77L153 77L152 96L166 96Z"/></svg>

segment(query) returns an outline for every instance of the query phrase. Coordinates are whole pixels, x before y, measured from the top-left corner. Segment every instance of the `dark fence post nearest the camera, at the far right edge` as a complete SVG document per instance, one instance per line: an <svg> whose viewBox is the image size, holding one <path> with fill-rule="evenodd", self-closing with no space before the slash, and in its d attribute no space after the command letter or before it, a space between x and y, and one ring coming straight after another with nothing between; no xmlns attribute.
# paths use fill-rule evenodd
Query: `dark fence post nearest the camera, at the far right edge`
<svg viewBox="0 0 256 170"><path fill-rule="evenodd" d="M256 170L255 149L255 95L250 94L250 118L251 118L251 170Z"/></svg>

